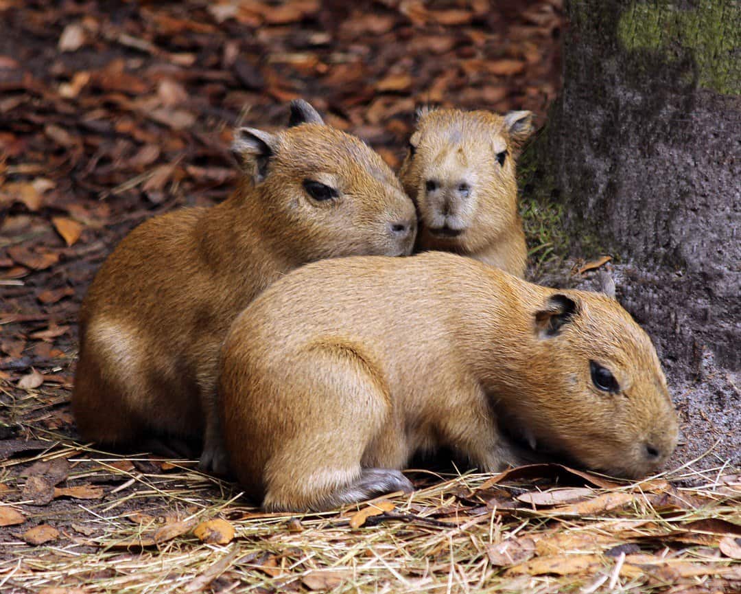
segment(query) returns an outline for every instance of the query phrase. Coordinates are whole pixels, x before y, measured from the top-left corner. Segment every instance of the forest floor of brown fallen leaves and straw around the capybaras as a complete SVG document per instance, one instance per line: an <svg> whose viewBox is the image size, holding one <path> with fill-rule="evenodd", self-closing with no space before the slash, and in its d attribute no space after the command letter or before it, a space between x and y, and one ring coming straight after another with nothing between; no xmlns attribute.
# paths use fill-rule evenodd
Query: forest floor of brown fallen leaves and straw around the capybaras
<svg viewBox="0 0 741 594"><path fill-rule="evenodd" d="M267 515L194 461L77 439L87 286L134 225L228 194L234 125L285 125L301 96L397 167L418 105L545 122L561 3L489 9L0 0L0 591L741 590L741 478L722 461L637 484L420 471L411 496ZM527 208L545 263L547 213Z"/></svg>

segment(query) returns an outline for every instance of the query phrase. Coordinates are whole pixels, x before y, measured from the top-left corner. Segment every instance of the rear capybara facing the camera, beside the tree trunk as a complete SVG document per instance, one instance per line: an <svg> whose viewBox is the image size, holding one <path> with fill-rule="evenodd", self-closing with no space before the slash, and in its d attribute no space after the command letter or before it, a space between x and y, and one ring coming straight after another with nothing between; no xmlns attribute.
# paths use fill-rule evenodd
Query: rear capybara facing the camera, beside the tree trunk
<svg viewBox="0 0 741 594"><path fill-rule="evenodd" d="M515 159L531 131L529 111L420 113L399 171L419 211L416 251L453 251L524 277L528 254Z"/></svg>

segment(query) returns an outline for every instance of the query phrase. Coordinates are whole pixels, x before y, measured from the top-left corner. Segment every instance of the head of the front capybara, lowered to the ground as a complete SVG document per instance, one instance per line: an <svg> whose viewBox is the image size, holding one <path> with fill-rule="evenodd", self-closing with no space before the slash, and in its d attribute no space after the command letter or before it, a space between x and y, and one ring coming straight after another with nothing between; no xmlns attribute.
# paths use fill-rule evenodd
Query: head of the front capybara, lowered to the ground
<svg viewBox="0 0 741 594"><path fill-rule="evenodd" d="M604 294L554 292L532 331L522 421L538 449L628 478L662 466L677 445L677 414L654 345L630 314Z"/></svg>

